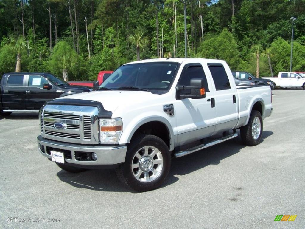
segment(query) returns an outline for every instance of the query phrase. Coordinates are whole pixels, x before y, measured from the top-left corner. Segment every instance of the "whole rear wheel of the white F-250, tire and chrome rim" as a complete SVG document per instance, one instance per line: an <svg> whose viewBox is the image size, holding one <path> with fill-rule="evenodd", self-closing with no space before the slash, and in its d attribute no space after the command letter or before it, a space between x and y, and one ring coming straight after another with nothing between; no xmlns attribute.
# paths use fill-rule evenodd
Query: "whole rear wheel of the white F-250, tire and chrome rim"
<svg viewBox="0 0 305 229"><path fill-rule="evenodd" d="M263 119L259 111L253 110L247 125L240 128L242 142L249 146L260 143L263 133Z"/></svg>

